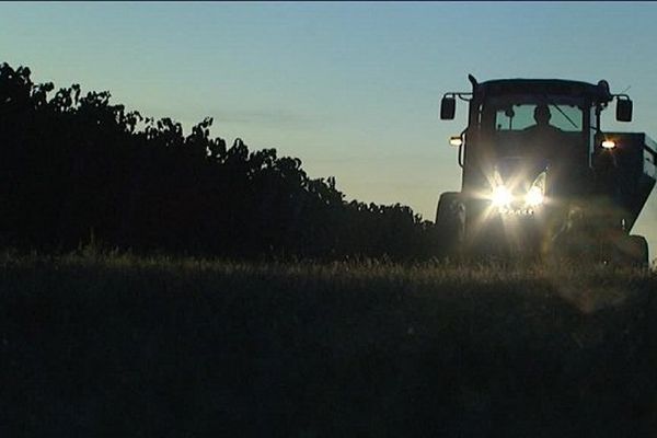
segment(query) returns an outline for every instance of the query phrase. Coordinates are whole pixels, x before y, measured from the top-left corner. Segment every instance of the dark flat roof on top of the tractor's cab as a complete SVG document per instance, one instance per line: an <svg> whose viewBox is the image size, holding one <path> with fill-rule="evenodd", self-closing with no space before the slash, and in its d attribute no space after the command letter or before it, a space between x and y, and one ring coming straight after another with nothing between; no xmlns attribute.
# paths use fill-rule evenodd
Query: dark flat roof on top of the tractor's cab
<svg viewBox="0 0 657 438"><path fill-rule="evenodd" d="M534 93L586 95L603 102L609 102L612 99L607 81L600 81L593 85L588 82L564 79L495 79L476 84L475 93L482 93L483 95Z"/></svg>

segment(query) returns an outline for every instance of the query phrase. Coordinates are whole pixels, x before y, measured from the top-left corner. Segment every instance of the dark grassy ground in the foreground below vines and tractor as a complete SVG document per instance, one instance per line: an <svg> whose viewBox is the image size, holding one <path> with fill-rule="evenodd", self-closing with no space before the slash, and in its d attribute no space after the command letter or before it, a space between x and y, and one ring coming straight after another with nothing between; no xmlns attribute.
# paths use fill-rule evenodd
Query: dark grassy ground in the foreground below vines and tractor
<svg viewBox="0 0 657 438"><path fill-rule="evenodd" d="M657 275L0 255L0 435L642 437Z"/></svg>

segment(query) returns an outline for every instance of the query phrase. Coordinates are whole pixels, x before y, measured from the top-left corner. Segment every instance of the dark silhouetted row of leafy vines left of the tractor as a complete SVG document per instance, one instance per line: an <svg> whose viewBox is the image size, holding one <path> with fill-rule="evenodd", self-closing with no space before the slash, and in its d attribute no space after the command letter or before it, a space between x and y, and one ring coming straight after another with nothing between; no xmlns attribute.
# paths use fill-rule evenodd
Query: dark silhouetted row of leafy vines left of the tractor
<svg viewBox="0 0 657 438"><path fill-rule="evenodd" d="M301 160L184 136L170 119L35 84L0 66L0 245L108 249L231 257L429 257L433 223L411 208L345 201L335 180Z"/></svg>

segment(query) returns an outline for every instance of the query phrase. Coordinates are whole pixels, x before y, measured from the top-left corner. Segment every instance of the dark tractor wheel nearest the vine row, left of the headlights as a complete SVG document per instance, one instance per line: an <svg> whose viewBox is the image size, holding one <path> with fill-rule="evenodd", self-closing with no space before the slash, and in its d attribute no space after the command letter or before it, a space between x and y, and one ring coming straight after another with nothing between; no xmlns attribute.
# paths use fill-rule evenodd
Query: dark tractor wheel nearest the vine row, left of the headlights
<svg viewBox="0 0 657 438"><path fill-rule="evenodd" d="M436 209L436 230L440 245L438 253L443 257L458 258L465 232L465 206L460 193L440 195Z"/></svg>

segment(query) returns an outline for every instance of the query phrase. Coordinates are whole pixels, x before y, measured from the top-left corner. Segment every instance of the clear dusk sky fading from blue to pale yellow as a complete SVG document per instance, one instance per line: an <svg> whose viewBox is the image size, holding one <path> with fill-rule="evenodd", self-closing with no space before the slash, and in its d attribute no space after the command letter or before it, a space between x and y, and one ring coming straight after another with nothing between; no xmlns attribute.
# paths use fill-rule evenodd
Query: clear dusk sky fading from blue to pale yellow
<svg viewBox="0 0 657 438"><path fill-rule="evenodd" d="M112 93L185 132L297 157L347 199L407 205L434 220L461 170L439 120L445 92L502 78L558 78L626 91L657 139L657 3L0 2L0 61L37 83ZM657 195L635 233L657 256Z"/></svg>

